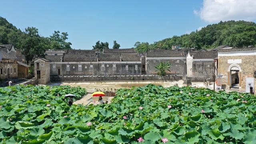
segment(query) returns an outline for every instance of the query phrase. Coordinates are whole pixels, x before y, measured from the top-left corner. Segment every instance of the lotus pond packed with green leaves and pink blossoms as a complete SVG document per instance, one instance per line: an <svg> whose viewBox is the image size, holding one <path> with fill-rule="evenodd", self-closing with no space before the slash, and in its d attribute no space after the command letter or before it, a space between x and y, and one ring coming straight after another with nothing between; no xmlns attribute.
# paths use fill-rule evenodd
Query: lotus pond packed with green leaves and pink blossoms
<svg viewBox="0 0 256 144"><path fill-rule="evenodd" d="M0 88L0 144L255 144L256 98L205 88L120 89L110 104L72 105L69 86Z"/></svg>

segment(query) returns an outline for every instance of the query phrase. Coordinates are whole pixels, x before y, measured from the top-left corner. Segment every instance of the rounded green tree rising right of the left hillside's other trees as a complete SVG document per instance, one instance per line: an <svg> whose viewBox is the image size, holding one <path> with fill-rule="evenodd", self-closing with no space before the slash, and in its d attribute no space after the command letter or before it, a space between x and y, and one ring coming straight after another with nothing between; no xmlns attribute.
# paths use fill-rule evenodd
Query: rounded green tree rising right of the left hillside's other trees
<svg viewBox="0 0 256 144"><path fill-rule="evenodd" d="M71 43L66 42L68 40L68 33L60 31L54 31L52 36L50 36L50 49L52 50L70 50Z"/></svg>

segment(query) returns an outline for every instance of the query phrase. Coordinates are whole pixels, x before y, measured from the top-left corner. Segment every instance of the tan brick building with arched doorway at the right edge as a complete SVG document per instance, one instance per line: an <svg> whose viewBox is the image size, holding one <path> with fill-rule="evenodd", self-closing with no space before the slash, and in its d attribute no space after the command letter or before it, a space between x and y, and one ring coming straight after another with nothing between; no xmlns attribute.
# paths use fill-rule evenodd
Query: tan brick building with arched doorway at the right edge
<svg viewBox="0 0 256 144"><path fill-rule="evenodd" d="M224 89L250 92L254 88L256 48L223 48L218 50L218 84Z"/></svg>

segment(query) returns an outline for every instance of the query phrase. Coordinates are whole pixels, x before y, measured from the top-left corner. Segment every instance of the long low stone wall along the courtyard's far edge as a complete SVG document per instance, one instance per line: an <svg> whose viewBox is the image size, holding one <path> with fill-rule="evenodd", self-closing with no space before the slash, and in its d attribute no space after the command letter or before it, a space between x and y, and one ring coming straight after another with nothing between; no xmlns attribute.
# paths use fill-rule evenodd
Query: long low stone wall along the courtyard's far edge
<svg viewBox="0 0 256 144"><path fill-rule="evenodd" d="M51 82L88 82L88 81L140 81L140 80L163 80L178 81L183 76L52 76Z"/></svg>

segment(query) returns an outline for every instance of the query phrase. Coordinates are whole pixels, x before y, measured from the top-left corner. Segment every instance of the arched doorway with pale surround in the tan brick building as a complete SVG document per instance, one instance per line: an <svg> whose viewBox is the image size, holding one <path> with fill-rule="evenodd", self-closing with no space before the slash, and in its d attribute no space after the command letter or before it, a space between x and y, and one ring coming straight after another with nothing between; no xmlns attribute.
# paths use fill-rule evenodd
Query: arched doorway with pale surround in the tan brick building
<svg viewBox="0 0 256 144"><path fill-rule="evenodd" d="M238 64L231 64L228 68L229 88L239 89L241 87L242 70Z"/></svg>

